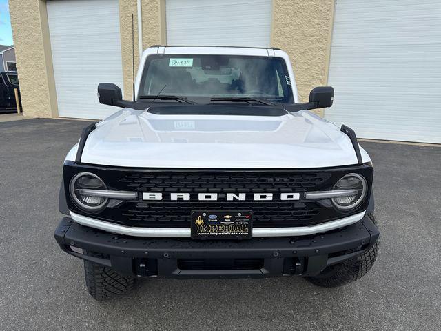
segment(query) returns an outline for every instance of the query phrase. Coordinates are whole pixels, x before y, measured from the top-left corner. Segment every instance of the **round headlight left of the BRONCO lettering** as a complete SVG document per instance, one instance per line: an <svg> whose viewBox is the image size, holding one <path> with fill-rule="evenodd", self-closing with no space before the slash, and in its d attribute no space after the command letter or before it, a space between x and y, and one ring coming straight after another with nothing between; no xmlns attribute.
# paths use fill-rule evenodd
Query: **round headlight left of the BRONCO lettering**
<svg viewBox="0 0 441 331"><path fill-rule="evenodd" d="M81 172L76 174L70 181L70 196L74 203L86 211L97 211L103 208L108 199L103 197L94 197L88 195L87 190L106 190L105 183L90 172Z"/></svg>

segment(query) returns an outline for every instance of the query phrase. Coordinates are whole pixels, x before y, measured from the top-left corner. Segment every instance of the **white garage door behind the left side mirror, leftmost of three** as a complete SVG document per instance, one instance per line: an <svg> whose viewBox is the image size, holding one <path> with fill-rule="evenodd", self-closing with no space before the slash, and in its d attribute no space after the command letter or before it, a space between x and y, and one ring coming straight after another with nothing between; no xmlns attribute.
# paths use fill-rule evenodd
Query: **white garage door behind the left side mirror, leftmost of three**
<svg viewBox="0 0 441 331"><path fill-rule="evenodd" d="M123 88L118 0L53 0L47 8L59 116L107 117L118 109L101 105L96 87Z"/></svg>

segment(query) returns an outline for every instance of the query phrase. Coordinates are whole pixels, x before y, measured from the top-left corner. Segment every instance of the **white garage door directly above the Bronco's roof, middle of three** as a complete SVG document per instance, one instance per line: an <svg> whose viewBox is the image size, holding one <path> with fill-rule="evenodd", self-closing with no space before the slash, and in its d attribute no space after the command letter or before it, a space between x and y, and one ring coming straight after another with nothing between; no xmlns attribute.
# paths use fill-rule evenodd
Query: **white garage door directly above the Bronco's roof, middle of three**
<svg viewBox="0 0 441 331"><path fill-rule="evenodd" d="M271 0L166 0L168 45L271 43Z"/></svg>

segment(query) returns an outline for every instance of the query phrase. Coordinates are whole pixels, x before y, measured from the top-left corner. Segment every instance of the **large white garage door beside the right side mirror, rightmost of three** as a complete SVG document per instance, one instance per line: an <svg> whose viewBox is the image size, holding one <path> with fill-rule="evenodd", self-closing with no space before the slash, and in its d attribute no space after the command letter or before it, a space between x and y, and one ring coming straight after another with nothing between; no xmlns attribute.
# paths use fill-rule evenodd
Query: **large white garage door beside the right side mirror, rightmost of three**
<svg viewBox="0 0 441 331"><path fill-rule="evenodd" d="M358 137L441 143L441 1L336 0L329 85Z"/></svg>

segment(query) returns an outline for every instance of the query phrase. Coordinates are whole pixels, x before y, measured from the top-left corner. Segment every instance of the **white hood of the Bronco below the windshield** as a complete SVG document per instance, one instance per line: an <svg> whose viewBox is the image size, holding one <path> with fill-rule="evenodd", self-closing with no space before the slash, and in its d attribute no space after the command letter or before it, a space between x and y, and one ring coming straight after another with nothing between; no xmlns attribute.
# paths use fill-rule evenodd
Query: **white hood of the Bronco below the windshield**
<svg viewBox="0 0 441 331"><path fill-rule="evenodd" d="M361 150L363 162L370 161ZM74 160L76 147L66 159ZM325 168L357 163L349 137L307 111L281 117L156 115L125 108L96 125L81 162L134 168Z"/></svg>

